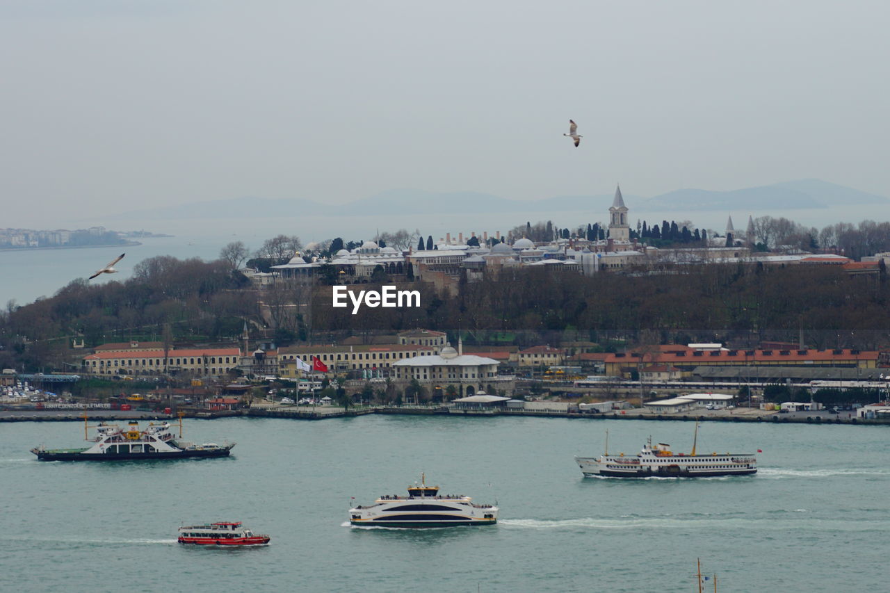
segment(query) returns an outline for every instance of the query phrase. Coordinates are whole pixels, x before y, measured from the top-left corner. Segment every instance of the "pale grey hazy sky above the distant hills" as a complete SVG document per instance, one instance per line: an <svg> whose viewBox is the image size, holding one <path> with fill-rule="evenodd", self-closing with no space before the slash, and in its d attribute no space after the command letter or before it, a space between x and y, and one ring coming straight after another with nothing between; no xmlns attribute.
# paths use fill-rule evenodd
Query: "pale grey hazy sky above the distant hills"
<svg viewBox="0 0 890 593"><path fill-rule="evenodd" d="M890 196L888 17L816 0L4 0L0 226L402 187L818 177Z"/></svg>

